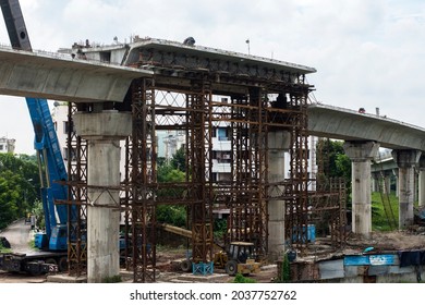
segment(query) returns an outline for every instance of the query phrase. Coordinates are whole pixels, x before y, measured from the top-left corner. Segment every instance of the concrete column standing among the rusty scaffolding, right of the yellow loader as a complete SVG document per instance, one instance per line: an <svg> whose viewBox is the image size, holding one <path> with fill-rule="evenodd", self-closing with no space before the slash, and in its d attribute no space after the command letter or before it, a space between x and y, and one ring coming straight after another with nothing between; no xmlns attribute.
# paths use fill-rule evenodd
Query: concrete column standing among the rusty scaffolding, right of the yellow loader
<svg viewBox="0 0 425 305"><path fill-rule="evenodd" d="M268 133L268 181L279 183L284 180L284 152L290 148L289 132ZM270 196L280 195L282 186L270 187ZM268 255L276 260L284 252L284 200L276 199L268 203Z"/></svg>

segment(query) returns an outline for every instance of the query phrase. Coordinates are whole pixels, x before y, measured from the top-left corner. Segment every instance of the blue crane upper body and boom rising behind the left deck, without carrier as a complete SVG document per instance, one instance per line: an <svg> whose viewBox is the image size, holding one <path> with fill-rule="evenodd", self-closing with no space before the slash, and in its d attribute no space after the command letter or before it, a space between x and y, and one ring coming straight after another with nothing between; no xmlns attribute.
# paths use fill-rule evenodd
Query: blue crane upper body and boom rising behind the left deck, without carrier
<svg viewBox="0 0 425 305"><path fill-rule="evenodd" d="M19 0L0 0L0 5L12 48L33 51ZM54 200L68 198L66 186L56 183L68 180L66 169L47 100L26 97L26 103L34 126L34 148L40 174L46 221L45 232L39 232L35 236L36 247L65 251L68 208L64 205L54 205Z"/></svg>

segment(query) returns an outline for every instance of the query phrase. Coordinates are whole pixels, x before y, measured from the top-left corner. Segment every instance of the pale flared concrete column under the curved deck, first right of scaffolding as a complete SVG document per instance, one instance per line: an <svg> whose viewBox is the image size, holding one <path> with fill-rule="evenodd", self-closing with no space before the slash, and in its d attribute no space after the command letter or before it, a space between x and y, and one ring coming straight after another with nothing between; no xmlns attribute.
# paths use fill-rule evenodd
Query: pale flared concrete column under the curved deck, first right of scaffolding
<svg viewBox="0 0 425 305"><path fill-rule="evenodd" d="M371 163L379 144L345 142L343 147L352 161L352 231L368 236L372 232Z"/></svg>

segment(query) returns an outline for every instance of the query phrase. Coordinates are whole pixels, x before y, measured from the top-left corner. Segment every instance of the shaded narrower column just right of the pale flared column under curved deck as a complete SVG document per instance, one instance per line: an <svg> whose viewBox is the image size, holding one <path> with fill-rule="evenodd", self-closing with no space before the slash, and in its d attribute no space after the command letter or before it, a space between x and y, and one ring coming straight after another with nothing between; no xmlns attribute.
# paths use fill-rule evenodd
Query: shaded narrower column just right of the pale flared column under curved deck
<svg viewBox="0 0 425 305"><path fill-rule="evenodd" d="M414 174L420 157L418 150L392 150L392 158L399 167L399 229L413 224Z"/></svg>

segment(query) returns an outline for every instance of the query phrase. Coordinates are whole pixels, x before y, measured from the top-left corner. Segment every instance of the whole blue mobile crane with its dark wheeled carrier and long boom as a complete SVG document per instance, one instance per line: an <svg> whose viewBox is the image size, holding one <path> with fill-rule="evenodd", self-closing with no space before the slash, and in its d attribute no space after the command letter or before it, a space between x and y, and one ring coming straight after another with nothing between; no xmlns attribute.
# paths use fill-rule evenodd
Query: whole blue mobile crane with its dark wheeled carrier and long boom
<svg viewBox="0 0 425 305"><path fill-rule="evenodd" d="M13 49L32 52L28 34L19 0L0 0L3 19ZM53 120L46 99L26 97L33 122L46 228L35 234L35 246L42 251L34 254L0 255L0 268L8 271L31 273L64 271L68 269L69 207L58 203L68 199L66 169L56 133ZM72 151L70 151L72 152ZM73 207L71 215L75 215ZM83 223L83 231L85 223ZM85 243L86 234L82 242ZM125 247L120 237L119 247Z"/></svg>

